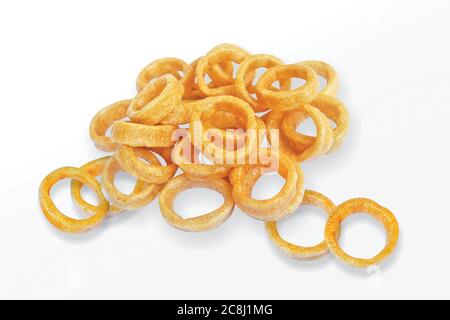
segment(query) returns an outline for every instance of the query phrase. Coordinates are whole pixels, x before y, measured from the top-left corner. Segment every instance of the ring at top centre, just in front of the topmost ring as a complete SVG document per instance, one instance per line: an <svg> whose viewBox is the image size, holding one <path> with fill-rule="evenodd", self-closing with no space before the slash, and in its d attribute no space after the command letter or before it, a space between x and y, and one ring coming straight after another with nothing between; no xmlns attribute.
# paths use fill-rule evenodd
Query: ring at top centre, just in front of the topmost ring
<svg viewBox="0 0 450 320"><path fill-rule="evenodd" d="M231 47L221 47L208 53L198 62L196 69L197 86L206 96L233 95L235 93L234 79L230 84L222 85L217 88L208 86L205 81L205 75L211 72L213 66L224 61L234 61L241 63L249 54ZM220 67L216 68L219 69ZM224 75L227 75L225 72ZM229 76L229 75L228 75ZM216 79L217 80L217 79Z"/></svg>

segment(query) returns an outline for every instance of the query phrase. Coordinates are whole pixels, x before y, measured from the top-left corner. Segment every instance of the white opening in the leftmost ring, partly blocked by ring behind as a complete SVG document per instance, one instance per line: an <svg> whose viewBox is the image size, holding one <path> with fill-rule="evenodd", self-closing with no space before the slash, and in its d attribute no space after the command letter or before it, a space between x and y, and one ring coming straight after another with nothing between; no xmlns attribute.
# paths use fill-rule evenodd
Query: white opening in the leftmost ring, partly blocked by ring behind
<svg viewBox="0 0 450 320"><path fill-rule="evenodd" d="M83 211L76 203L73 202L70 193L71 179L63 179L58 181L50 191L50 197L56 208L64 215L77 220L87 219L90 215ZM94 192L94 197L97 199L97 195ZM87 198L84 198L87 201ZM96 200L98 201L98 200ZM96 201L89 201L92 204L97 204Z"/></svg>

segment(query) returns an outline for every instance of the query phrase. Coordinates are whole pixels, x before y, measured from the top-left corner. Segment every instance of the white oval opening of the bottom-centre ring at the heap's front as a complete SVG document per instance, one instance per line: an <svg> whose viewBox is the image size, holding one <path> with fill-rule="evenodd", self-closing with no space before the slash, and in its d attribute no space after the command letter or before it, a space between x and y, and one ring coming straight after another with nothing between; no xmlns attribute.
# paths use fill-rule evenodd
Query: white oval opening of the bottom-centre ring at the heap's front
<svg viewBox="0 0 450 320"><path fill-rule="evenodd" d="M173 207L178 215L188 219L210 213L222 206L223 196L212 189L193 188L179 193Z"/></svg>

